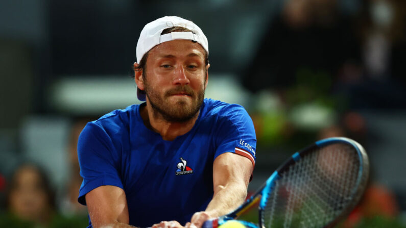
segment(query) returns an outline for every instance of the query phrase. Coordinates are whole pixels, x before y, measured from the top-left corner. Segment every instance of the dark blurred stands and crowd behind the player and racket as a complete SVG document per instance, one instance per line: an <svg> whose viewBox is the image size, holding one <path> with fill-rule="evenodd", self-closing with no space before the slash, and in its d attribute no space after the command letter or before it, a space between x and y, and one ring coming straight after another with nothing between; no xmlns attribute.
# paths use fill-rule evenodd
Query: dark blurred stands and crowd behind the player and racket
<svg viewBox="0 0 406 228"><path fill-rule="evenodd" d="M0 0L0 227L85 227L78 135L139 104L146 23L176 15L209 40L206 97L243 105L254 191L294 151L346 136L371 175L345 227L406 227L406 1Z"/></svg>

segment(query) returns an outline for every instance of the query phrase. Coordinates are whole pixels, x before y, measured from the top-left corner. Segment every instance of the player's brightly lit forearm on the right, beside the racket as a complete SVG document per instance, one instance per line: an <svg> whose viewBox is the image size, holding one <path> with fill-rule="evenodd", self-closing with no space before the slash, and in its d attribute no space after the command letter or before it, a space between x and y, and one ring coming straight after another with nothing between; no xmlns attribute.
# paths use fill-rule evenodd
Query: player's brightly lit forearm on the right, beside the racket
<svg viewBox="0 0 406 228"><path fill-rule="evenodd" d="M205 212L210 217L225 215L240 206L247 197L247 185L244 182L229 182L217 186L212 200Z"/></svg>

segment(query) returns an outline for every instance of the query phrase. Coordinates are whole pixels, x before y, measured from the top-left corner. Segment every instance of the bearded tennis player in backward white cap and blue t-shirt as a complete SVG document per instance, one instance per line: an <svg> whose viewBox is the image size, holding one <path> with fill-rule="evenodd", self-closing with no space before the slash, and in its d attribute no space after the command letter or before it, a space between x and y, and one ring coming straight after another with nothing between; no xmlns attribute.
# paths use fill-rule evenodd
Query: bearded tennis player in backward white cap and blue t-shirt
<svg viewBox="0 0 406 228"><path fill-rule="evenodd" d="M247 195L252 120L241 106L204 99L208 43L192 21L148 23L136 52L137 96L146 102L86 125L78 200L89 227L200 227Z"/></svg>

